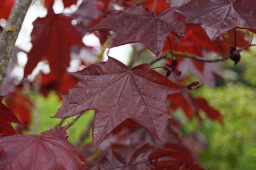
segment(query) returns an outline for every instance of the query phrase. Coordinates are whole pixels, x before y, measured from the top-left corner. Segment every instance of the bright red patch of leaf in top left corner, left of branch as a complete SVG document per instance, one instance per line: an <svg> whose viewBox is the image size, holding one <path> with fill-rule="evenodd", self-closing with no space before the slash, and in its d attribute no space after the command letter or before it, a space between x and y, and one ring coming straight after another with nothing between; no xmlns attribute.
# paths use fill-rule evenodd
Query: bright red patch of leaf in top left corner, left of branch
<svg viewBox="0 0 256 170"><path fill-rule="evenodd" d="M0 1L0 18L8 19L12 6L14 6L15 0L1 0Z"/></svg>

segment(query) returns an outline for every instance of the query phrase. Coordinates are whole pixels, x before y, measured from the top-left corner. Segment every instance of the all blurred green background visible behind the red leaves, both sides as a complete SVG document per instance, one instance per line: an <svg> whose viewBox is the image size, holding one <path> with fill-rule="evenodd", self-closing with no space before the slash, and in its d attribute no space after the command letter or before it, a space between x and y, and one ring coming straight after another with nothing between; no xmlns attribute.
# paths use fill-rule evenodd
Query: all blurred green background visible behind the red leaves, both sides
<svg viewBox="0 0 256 170"><path fill-rule="evenodd" d="M209 146L200 157L202 167L253 170L256 169L256 50L242 53L241 62L237 66L232 61L221 64L226 80L218 80L215 89L204 85L193 93L203 96L210 106L220 110L224 124L212 122L208 118L199 123L193 118L183 121L185 133L198 131L208 142ZM31 125L28 133L39 134L54 127L59 121L50 116L55 115L62 102L54 92L47 98L42 95L33 98L37 106L35 124ZM88 110L68 129L70 142L74 144L78 140L93 116L94 111ZM63 125L67 125L72 118L66 119ZM89 141L92 141L91 137Z"/></svg>

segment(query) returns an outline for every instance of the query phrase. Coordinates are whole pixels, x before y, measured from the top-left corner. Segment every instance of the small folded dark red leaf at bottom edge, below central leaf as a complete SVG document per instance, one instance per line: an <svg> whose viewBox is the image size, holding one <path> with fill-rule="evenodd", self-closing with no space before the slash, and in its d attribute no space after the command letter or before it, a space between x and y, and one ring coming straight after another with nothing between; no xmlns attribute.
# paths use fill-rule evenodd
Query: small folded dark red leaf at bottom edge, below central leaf
<svg viewBox="0 0 256 170"><path fill-rule="evenodd" d="M105 169L136 169L135 166L145 163L146 161L162 158L164 156L177 153L178 150L171 149L156 149L151 147L149 144L145 144L139 149L135 150L133 155L130 157L129 163L124 159L118 152L112 150L110 153L105 155L102 160L99 161L100 170ZM122 152L124 153L124 152Z"/></svg>

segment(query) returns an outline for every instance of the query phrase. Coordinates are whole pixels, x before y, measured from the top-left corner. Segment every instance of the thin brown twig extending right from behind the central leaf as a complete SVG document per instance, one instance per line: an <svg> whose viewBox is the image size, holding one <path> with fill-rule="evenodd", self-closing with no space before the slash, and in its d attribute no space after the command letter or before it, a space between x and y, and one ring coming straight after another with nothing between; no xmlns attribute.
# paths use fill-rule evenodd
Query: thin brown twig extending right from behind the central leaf
<svg viewBox="0 0 256 170"><path fill-rule="evenodd" d="M223 60L226 60L228 58L230 58L230 55L228 56L222 56L220 58L214 58L214 59L209 59L209 58L202 58L200 56L197 56L197 55L192 55L192 54L188 54L188 53L182 53L182 52L175 52L175 51L172 51L173 55L174 56L178 56L178 57L183 57L183 58L190 58L192 60L197 60L197 61L202 61L204 63L214 63L214 62L218 62L218 61L223 61ZM171 53L168 51L168 52L165 52L163 53L161 56L159 56L158 58L152 60L150 62L150 64L154 64L156 63L157 61L159 60L162 60L164 58L171 58L172 55Z"/></svg>

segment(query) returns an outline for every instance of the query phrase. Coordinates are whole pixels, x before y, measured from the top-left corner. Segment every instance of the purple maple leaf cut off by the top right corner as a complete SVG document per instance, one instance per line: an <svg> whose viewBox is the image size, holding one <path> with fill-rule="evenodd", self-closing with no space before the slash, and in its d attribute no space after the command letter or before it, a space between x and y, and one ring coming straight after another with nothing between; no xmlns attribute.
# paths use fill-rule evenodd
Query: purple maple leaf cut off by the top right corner
<svg viewBox="0 0 256 170"><path fill-rule="evenodd" d="M191 0L178 7L178 12L187 23L202 23L214 39L236 27L256 29L255 9L254 0Z"/></svg>

